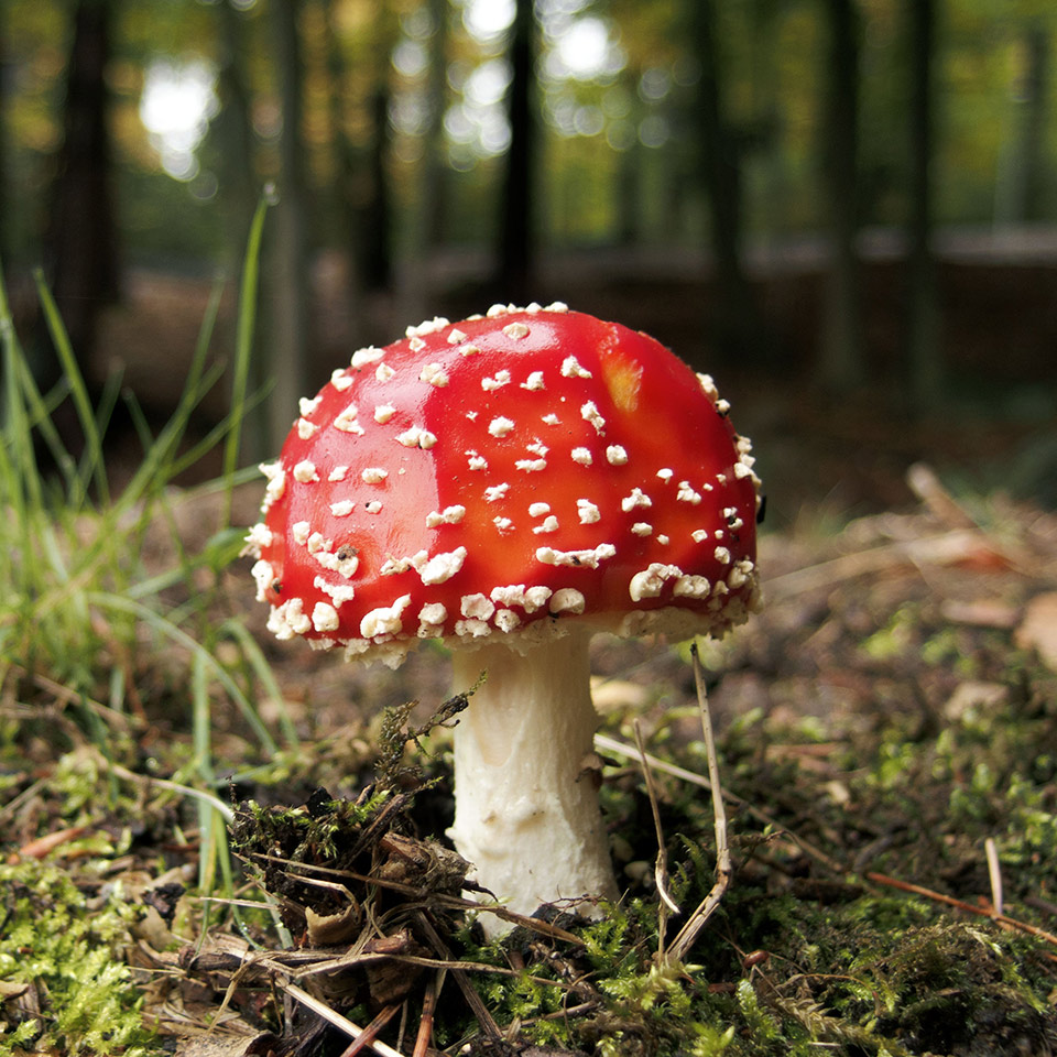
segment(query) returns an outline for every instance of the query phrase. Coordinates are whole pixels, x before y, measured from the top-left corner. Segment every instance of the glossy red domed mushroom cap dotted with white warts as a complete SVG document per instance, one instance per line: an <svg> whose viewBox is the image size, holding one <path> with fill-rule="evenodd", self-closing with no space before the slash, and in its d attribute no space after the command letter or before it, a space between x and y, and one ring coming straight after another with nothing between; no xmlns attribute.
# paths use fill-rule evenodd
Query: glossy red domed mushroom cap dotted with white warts
<svg viewBox="0 0 1057 1057"><path fill-rule="evenodd" d="M349 655L573 618L721 633L758 598L749 450L644 334L564 305L434 319L302 401L262 467L259 597L280 639Z"/></svg>

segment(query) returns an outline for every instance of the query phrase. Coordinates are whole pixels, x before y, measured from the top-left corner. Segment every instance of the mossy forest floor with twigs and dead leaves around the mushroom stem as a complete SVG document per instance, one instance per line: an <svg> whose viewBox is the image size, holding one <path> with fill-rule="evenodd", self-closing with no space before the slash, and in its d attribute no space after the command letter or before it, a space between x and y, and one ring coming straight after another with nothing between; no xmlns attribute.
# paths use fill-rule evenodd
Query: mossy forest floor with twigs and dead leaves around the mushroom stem
<svg viewBox="0 0 1057 1057"><path fill-rule="evenodd" d="M222 491L63 526L126 533L134 576L63 585L91 655L44 629L12 663L0 620L0 1055L351 1057L351 1022L389 1057L1057 1053L1051 419L742 382L771 501L764 608L700 644L726 830L685 645L599 636L625 894L501 945L445 847L439 652L274 642L249 563L209 560Z"/></svg>

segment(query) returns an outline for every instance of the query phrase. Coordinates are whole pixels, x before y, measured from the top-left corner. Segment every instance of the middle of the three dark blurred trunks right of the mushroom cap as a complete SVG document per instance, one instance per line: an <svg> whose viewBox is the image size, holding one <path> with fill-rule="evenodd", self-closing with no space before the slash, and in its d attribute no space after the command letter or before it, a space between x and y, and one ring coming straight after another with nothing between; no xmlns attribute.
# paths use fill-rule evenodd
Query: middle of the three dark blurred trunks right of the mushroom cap
<svg viewBox="0 0 1057 1057"><path fill-rule="evenodd" d="M859 34L854 0L826 0L829 46L822 134L822 201L831 243L822 303L819 381L846 393L865 380L859 233Z"/></svg>

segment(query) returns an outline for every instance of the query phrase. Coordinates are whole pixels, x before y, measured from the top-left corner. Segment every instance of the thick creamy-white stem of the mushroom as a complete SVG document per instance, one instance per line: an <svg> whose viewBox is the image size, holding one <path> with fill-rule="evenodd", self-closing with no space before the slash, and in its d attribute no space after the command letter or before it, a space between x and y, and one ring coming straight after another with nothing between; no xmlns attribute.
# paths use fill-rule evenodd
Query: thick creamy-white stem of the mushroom
<svg viewBox="0 0 1057 1057"><path fill-rule="evenodd" d="M455 652L456 686L471 686L482 669L488 678L455 729L448 835L473 864L471 878L521 914L618 895L591 766L589 641L576 628L523 651ZM510 927L492 915L482 924L493 936Z"/></svg>

